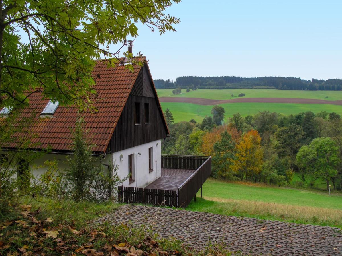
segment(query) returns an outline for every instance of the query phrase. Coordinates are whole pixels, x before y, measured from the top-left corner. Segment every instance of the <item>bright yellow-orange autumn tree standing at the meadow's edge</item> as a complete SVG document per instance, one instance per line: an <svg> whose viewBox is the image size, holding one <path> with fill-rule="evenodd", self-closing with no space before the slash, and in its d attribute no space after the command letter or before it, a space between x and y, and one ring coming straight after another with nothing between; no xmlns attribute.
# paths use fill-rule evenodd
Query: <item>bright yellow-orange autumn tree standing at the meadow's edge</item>
<svg viewBox="0 0 342 256"><path fill-rule="evenodd" d="M250 130L242 135L240 142L236 145L235 160L232 170L240 177L241 181L256 180L263 164L263 150L261 137L256 130Z"/></svg>

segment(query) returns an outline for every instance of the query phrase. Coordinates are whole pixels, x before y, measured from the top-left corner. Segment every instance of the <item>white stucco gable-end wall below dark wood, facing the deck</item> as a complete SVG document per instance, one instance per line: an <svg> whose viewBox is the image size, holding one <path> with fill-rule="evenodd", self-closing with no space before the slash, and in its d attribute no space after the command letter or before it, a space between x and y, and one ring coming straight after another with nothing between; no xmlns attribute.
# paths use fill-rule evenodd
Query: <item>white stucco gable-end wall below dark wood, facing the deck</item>
<svg viewBox="0 0 342 256"><path fill-rule="evenodd" d="M118 174L120 179L128 175L128 156L134 154L134 182L129 184L128 179L124 181L124 186L131 187L145 187L158 179L161 175L161 153L160 153L160 140L142 144L136 147L131 147L126 150L113 153L113 162L118 165ZM158 146L157 146L158 143ZM148 169L148 149L153 147L153 171L149 172ZM137 154L137 153L140 153ZM123 156L122 161L120 155Z"/></svg>

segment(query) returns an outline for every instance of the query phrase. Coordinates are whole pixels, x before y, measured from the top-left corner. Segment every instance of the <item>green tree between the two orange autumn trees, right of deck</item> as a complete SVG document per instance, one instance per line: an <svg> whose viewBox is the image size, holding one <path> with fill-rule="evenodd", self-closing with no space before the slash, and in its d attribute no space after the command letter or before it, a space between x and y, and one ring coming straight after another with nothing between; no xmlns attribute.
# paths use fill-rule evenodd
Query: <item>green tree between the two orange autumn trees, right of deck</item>
<svg viewBox="0 0 342 256"><path fill-rule="evenodd" d="M221 140L214 144L213 176L230 179L233 175L231 166L235 159L235 143L232 136L227 132L221 133Z"/></svg>

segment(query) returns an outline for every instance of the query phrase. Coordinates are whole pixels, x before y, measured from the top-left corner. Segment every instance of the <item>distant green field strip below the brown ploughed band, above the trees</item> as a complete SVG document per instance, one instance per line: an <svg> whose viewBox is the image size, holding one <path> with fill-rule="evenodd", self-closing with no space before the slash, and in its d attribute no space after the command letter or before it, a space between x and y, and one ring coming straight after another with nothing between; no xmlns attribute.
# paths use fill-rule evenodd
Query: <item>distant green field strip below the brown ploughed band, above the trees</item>
<svg viewBox="0 0 342 256"><path fill-rule="evenodd" d="M256 90L256 89L255 89ZM219 90L220 91L220 90ZM192 103L161 102L163 111L167 108L173 114L175 122L195 119L202 122L206 115L211 115L212 105L198 105ZM318 113L320 111L336 112L342 115L342 106L330 104L294 104L294 103L225 103L220 104L225 111L225 118L240 113L241 116L257 114L260 111L270 111L285 115L298 114L305 111Z"/></svg>

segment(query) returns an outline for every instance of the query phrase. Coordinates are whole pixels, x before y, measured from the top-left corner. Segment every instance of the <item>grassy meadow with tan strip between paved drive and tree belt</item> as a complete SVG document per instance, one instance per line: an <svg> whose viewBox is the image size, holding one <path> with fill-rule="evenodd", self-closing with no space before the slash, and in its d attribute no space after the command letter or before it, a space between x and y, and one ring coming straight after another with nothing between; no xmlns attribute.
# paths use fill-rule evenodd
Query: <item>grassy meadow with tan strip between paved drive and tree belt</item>
<svg viewBox="0 0 342 256"><path fill-rule="evenodd" d="M342 227L342 194L208 179L187 210Z"/></svg>

